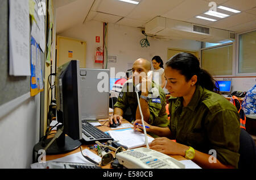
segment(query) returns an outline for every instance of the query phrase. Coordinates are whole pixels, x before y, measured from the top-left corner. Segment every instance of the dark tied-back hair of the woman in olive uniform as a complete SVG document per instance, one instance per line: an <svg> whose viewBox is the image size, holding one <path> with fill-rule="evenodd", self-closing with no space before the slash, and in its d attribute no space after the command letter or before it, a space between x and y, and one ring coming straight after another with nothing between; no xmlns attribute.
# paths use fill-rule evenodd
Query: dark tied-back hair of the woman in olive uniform
<svg viewBox="0 0 256 180"><path fill-rule="evenodd" d="M218 93L220 90L215 85L215 80L207 72L200 68L199 60L191 53L181 52L173 56L166 62L167 67L179 70L180 74L185 76L186 81L189 81L192 76L197 76L196 85L200 85L210 91Z"/></svg>

